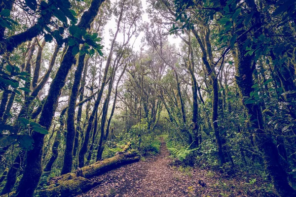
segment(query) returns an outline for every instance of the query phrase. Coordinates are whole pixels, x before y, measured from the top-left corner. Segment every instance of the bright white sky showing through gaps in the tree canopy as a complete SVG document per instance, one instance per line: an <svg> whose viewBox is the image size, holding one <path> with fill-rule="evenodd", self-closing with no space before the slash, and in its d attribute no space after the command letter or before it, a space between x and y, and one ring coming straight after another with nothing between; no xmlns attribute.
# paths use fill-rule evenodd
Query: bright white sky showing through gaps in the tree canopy
<svg viewBox="0 0 296 197"><path fill-rule="evenodd" d="M111 0L111 2L114 2L115 0ZM143 7L143 15L142 15L142 21L143 22L149 22L149 18L148 18L148 14L146 13L146 9L148 7L148 3L146 2L146 0L141 0L142 1L142 7ZM110 47L110 39L112 38L110 35L110 29L112 30L112 32L115 32L116 30L116 23L115 23L115 17L113 16L111 18L111 20L107 23L104 33L103 33L103 45L105 45L105 48L109 48ZM138 36L138 38L135 40L135 38L130 40L130 43L134 43L134 47L133 50L134 51L140 51L140 46L141 46L141 39L142 37L144 37L144 33L140 33L140 35ZM117 39L116 41L120 41L122 40L123 35L122 34L118 34L117 35ZM169 42L171 44L176 44L176 46L178 47L179 44L181 43L181 39L180 38L174 38L173 35L169 35Z"/></svg>

